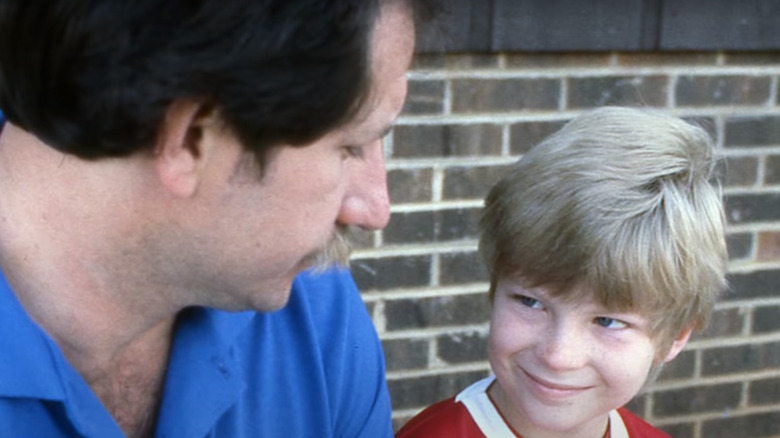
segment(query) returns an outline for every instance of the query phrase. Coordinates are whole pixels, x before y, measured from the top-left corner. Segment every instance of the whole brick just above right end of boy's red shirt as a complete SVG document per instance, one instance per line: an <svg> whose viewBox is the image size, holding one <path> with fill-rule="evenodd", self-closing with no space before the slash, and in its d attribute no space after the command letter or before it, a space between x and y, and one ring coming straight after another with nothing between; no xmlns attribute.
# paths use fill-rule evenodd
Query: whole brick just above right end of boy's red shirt
<svg viewBox="0 0 780 438"><path fill-rule="evenodd" d="M653 394L653 416L671 417L680 414L735 409L739 406L741 396L741 383L657 391Z"/></svg>

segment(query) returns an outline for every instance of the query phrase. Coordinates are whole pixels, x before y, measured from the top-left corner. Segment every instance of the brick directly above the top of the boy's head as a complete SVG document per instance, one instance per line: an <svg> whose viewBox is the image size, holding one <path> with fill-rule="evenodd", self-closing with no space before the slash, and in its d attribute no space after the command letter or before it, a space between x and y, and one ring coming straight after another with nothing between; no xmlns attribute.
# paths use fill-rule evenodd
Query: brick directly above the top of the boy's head
<svg viewBox="0 0 780 438"><path fill-rule="evenodd" d="M669 78L665 76L613 76L569 79L569 108L603 105L666 106Z"/></svg>

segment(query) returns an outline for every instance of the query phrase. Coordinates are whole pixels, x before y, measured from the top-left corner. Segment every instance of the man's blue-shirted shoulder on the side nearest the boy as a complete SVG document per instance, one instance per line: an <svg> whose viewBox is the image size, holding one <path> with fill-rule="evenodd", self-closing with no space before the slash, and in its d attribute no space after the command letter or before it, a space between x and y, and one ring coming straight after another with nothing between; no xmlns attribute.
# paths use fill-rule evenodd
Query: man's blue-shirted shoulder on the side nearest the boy
<svg viewBox="0 0 780 438"><path fill-rule="evenodd" d="M196 308L181 322L166 431L187 418L187 436L390 436L381 344L348 271L299 275L274 312Z"/></svg>

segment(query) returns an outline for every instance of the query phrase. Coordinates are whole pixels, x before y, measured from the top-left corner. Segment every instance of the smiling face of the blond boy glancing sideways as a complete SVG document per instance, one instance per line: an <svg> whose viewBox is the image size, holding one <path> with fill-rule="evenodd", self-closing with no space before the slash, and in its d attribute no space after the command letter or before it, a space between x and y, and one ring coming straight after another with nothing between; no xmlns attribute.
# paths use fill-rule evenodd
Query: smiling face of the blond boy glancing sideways
<svg viewBox="0 0 780 438"><path fill-rule="evenodd" d="M609 411L639 392L653 366L648 326L642 315L608 311L587 289L554 298L544 287L501 280L488 341L498 383L490 395L523 436L601 437Z"/></svg>

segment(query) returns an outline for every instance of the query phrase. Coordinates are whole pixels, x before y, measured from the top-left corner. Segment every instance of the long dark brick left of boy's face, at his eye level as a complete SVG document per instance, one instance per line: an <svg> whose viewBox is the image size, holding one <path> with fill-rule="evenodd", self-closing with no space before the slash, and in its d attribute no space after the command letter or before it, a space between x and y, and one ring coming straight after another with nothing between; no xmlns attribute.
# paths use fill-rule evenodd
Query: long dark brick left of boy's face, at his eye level
<svg viewBox="0 0 780 438"><path fill-rule="evenodd" d="M490 318L487 294L390 300L385 303L388 330L411 330L485 323Z"/></svg>

